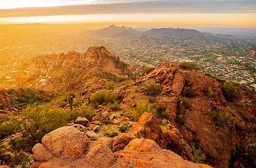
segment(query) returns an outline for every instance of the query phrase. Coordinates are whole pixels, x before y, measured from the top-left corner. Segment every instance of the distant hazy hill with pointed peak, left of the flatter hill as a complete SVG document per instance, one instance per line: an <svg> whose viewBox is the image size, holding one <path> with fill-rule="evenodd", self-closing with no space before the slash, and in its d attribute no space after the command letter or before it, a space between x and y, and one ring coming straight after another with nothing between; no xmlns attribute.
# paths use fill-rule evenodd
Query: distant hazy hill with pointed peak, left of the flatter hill
<svg viewBox="0 0 256 168"><path fill-rule="evenodd" d="M132 29L131 27L118 27L115 25L111 25L109 27L87 31L86 36L92 37L134 37L139 36L141 31L137 31L136 29Z"/></svg>

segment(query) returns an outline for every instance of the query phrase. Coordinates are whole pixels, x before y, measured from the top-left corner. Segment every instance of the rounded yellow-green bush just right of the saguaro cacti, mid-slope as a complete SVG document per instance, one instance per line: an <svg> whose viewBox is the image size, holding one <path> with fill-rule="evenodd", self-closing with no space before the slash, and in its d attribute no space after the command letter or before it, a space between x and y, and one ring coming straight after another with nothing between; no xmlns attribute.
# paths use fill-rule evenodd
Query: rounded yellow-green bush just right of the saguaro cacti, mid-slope
<svg viewBox="0 0 256 168"><path fill-rule="evenodd" d="M101 105L103 103L113 103L115 100L115 94L106 90L97 91L91 97L91 101L94 105Z"/></svg>

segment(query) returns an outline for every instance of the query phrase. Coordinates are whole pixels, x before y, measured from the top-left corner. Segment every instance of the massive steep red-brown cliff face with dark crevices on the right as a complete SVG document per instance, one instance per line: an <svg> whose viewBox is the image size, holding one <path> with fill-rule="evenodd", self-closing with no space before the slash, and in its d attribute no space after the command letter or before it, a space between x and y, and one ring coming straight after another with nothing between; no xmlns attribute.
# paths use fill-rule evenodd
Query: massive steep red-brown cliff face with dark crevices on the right
<svg viewBox="0 0 256 168"><path fill-rule="evenodd" d="M255 154L252 153L255 148L248 148L248 144L254 144L256 139L252 133L256 128L255 105L245 105L246 101L256 100L255 92L245 96L244 91L240 91L241 98L227 102L220 80L167 62L148 73L143 80L153 80L161 85L162 95L157 105L166 109L168 120L175 125L165 134L170 137L168 143L175 146L170 149L182 156L181 146L196 143L206 155L205 162L215 167L255 165ZM228 121L218 125L216 118L221 116L214 118L214 111L227 116ZM244 121L244 115L250 116L250 121ZM179 141L175 140L177 137ZM184 156L189 157L188 154L191 155L191 151Z"/></svg>

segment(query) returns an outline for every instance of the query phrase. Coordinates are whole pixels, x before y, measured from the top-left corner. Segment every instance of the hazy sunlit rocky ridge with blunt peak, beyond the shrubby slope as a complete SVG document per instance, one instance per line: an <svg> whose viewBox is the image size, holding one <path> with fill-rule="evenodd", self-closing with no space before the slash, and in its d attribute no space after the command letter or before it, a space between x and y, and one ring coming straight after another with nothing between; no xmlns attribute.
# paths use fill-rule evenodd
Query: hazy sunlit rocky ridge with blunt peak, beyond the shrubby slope
<svg viewBox="0 0 256 168"><path fill-rule="evenodd" d="M52 54L48 56L34 57L29 66L30 75L49 74L58 68L94 68L116 75L124 75L128 72L127 64L120 61L119 57L109 53L103 47L89 47L86 53L70 51L67 54Z"/></svg>

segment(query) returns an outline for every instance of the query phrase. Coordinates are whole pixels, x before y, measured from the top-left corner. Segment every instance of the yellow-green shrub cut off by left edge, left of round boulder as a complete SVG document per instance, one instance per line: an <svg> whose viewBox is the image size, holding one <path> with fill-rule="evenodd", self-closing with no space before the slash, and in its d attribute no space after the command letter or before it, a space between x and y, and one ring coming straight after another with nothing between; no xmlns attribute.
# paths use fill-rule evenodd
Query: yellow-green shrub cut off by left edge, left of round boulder
<svg viewBox="0 0 256 168"><path fill-rule="evenodd" d="M4 121L0 125L0 137L15 134L20 130L22 121L15 116L10 116L10 121Z"/></svg>

